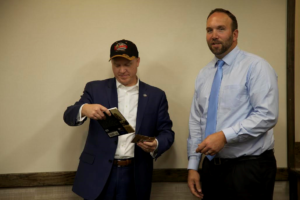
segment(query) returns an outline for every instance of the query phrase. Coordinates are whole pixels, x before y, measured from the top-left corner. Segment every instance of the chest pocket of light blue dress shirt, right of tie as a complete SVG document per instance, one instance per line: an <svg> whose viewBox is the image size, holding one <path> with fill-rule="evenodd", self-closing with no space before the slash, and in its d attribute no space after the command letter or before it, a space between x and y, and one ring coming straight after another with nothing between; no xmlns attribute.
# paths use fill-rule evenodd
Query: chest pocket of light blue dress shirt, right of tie
<svg viewBox="0 0 300 200"><path fill-rule="evenodd" d="M226 85L219 98L223 109L235 109L247 101L247 88L244 85Z"/></svg>

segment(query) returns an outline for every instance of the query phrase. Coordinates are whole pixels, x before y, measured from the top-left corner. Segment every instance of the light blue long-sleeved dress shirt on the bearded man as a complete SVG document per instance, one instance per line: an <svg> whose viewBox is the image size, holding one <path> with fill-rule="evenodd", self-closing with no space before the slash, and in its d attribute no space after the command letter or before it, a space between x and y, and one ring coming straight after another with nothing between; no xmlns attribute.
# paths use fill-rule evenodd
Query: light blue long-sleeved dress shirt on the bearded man
<svg viewBox="0 0 300 200"><path fill-rule="evenodd" d="M264 59L235 47L222 59L216 132L227 140L216 157L260 155L274 148L273 127L278 118L277 75ZM208 100L218 59L198 74L189 119L188 169L197 170L201 153L195 150L205 138Z"/></svg>

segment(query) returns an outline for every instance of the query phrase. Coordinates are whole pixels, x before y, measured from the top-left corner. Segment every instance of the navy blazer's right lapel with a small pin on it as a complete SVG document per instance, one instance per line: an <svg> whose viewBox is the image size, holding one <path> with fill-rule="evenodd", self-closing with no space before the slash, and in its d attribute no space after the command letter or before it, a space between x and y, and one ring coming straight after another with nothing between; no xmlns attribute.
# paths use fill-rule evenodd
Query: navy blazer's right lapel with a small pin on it
<svg viewBox="0 0 300 200"><path fill-rule="evenodd" d="M148 103L148 93L147 93L147 85L140 81L139 84L139 102L138 102L138 111L136 116L136 130L135 133L139 132L139 129L141 127L144 113L146 111L147 103Z"/></svg>

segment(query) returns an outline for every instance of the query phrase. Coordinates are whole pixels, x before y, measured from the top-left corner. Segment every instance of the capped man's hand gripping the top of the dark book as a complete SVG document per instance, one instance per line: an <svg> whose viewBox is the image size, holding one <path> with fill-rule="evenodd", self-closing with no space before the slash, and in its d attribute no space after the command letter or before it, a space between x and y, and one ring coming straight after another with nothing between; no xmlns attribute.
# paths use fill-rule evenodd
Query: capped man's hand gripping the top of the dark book
<svg viewBox="0 0 300 200"><path fill-rule="evenodd" d="M104 120L106 117L103 112L111 116L109 110L100 104L84 104L81 109L81 117L86 116L90 119Z"/></svg>

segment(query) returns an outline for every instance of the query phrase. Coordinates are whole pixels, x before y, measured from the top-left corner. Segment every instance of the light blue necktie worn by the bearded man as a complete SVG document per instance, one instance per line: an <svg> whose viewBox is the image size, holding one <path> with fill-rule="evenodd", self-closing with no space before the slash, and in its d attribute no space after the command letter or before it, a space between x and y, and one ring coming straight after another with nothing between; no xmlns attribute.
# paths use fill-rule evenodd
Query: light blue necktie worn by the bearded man
<svg viewBox="0 0 300 200"><path fill-rule="evenodd" d="M214 82L211 87L210 96L209 96L209 103L208 103L208 110L207 110L207 121L206 121L206 128L205 128L205 138L210 134L216 132L217 126L217 111L218 111L218 100L219 100L219 91L223 77L223 69L222 66L224 65L223 60L218 61L218 69L215 74ZM215 156L206 156L209 160L212 160Z"/></svg>

